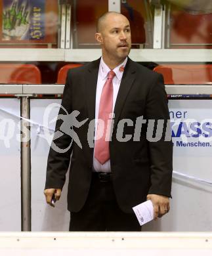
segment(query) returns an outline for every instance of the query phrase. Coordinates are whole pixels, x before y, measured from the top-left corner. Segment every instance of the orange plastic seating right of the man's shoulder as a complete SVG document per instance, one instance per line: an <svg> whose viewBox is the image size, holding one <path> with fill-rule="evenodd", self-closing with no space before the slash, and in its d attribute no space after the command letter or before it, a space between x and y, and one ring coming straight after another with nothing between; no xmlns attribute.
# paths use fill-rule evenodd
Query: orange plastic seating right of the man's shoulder
<svg viewBox="0 0 212 256"><path fill-rule="evenodd" d="M212 65L210 64L167 64L157 66L154 71L163 75L167 85L205 85L212 83Z"/></svg>

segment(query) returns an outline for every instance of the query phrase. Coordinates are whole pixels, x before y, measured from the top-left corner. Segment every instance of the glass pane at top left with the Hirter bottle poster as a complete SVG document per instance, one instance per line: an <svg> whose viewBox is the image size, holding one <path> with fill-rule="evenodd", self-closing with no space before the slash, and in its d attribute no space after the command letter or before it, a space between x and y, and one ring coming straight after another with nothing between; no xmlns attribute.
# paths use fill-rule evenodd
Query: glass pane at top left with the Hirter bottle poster
<svg viewBox="0 0 212 256"><path fill-rule="evenodd" d="M56 48L57 0L2 0L0 47Z"/></svg>

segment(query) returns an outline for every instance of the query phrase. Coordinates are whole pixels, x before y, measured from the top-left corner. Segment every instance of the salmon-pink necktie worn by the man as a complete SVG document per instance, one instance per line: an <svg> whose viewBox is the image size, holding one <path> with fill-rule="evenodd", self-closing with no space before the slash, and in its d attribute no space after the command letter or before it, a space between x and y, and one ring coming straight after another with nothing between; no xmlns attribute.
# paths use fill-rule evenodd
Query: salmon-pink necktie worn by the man
<svg viewBox="0 0 212 256"><path fill-rule="evenodd" d="M116 74L110 70L108 72L108 78L104 83L102 89L102 95L100 98L100 104L98 109L98 119L102 120L98 123L96 137L100 138L95 141L95 158L101 164L105 163L110 159L109 152L109 137L110 125L108 127L108 119L113 110L113 78ZM107 131L108 128L108 131ZM103 130L104 129L104 130ZM103 130L103 131L102 131ZM101 137L102 135L102 137Z"/></svg>

